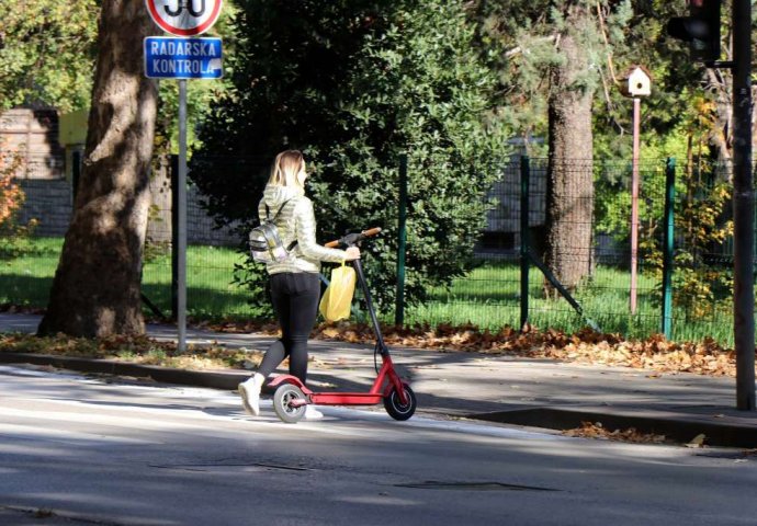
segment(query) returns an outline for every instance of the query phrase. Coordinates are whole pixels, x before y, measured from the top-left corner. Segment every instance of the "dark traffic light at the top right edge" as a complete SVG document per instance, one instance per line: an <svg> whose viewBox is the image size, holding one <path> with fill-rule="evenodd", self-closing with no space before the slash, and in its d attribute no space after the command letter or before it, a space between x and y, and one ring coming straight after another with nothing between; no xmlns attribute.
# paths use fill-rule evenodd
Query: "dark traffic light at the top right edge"
<svg viewBox="0 0 757 526"><path fill-rule="evenodd" d="M720 58L720 2L688 0L689 16L668 21L668 35L689 43L694 62L712 62Z"/></svg>

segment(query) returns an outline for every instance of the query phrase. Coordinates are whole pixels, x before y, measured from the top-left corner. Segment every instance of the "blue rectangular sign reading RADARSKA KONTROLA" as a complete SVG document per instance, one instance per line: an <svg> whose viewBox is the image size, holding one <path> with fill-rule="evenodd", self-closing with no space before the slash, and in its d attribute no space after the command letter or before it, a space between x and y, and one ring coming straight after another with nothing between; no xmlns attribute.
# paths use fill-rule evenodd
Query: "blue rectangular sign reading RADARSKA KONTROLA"
<svg viewBox="0 0 757 526"><path fill-rule="evenodd" d="M145 38L145 75L151 79L219 79L221 38Z"/></svg>

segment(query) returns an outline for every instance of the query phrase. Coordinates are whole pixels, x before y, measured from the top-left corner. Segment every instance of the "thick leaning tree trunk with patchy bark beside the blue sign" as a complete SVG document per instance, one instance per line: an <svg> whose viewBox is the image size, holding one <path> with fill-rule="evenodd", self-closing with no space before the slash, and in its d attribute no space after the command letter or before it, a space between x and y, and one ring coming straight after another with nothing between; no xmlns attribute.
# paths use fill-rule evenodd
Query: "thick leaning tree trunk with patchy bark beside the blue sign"
<svg viewBox="0 0 757 526"><path fill-rule="evenodd" d="M140 0L102 2L84 167L39 334L143 334L142 255L157 90Z"/></svg>

